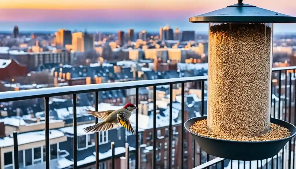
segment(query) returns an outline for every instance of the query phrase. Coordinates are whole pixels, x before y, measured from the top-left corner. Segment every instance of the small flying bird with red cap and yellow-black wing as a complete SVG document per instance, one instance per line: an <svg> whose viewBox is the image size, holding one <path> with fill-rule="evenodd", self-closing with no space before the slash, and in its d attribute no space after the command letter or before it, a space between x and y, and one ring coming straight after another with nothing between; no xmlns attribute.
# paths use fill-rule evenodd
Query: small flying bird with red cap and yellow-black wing
<svg viewBox="0 0 296 169"><path fill-rule="evenodd" d="M88 114L102 119L103 121L83 129L86 133L89 133L94 131L107 131L112 129L114 125L122 125L128 131L131 131L131 133L135 133L133 127L131 126L131 122L128 120L128 118L131 117L133 110L135 109L138 109L138 107L136 107L132 103L128 103L124 105L123 108L120 108L118 110L106 110L102 112L96 112L84 109L84 111Z"/></svg>

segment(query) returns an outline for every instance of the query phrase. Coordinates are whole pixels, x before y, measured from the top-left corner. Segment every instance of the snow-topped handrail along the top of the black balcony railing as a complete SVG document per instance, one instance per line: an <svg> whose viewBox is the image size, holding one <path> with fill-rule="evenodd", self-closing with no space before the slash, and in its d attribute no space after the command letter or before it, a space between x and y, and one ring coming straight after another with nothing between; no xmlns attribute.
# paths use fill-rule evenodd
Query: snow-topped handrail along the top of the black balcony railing
<svg viewBox="0 0 296 169"><path fill-rule="evenodd" d="M275 67L272 71L281 70L295 70L296 66L289 67ZM68 94L89 93L94 91L109 91L128 88L139 88L148 86L160 86L177 83L188 83L196 81L206 81L207 76L194 76L186 78L170 78L170 79L155 79L155 80L141 80L141 81L128 81L128 82L115 82L115 83L100 83L76 86L62 86L52 88L38 88L21 91L4 91L0 92L0 102L9 102L26 99L36 99L41 97L53 97Z"/></svg>

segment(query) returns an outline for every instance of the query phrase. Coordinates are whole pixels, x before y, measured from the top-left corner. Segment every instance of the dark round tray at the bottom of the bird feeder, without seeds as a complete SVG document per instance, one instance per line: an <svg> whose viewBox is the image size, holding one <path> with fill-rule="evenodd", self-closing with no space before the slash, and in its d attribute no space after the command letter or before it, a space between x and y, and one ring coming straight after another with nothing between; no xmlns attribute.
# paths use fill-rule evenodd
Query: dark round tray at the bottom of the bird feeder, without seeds
<svg viewBox="0 0 296 169"><path fill-rule="evenodd" d="M232 141L213 139L190 131L189 128L195 122L205 119L207 119L207 116L189 119L184 123L184 127L207 154L230 160L252 161L274 157L296 134L296 127L294 125L275 118L271 118L270 122L289 129L291 132L289 137L273 141Z"/></svg>

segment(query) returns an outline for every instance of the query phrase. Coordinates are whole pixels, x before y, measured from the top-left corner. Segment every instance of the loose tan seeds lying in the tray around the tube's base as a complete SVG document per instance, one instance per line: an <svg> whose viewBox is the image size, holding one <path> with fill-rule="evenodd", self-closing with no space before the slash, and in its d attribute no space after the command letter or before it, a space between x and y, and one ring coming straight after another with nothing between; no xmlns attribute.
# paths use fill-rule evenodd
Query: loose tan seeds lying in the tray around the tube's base
<svg viewBox="0 0 296 169"><path fill-rule="evenodd" d="M270 123L269 131L266 134L262 134L259 136L240 136L240 135L231 135L224 136L221 133L210 132L207 130L207 120L200 120L195 122L191 127L190 131L197 133L201 136L206 136L214 139L222 139L222 140L233 140L233 141L272 141L278 139L284 139L290 136L291 132L284 127L281 127L277 124Z"/></svg>

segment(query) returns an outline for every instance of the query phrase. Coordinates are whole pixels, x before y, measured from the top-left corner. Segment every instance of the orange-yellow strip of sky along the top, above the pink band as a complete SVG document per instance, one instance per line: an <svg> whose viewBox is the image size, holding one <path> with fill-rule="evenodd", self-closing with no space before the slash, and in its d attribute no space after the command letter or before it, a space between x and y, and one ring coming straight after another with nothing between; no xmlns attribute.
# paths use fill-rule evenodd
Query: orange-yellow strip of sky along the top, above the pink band
<svg viewBox="0 0 296 169"><path fill-rule="evenodd" d="M288 13L296 11L291 0L244 0L244 3ZM267 3L268 2L268 3ZM0 0L2 9L143 9L214 10L237 3L236 0ZM293 3L293 4L291 4ZM290 5L287 5L290 4ZM286 12L286 13L287 13Z"/></svg>

